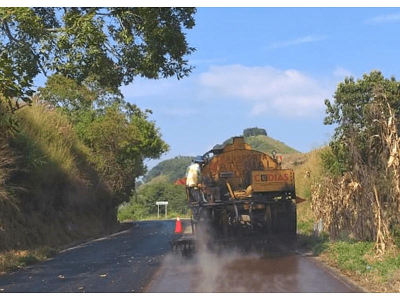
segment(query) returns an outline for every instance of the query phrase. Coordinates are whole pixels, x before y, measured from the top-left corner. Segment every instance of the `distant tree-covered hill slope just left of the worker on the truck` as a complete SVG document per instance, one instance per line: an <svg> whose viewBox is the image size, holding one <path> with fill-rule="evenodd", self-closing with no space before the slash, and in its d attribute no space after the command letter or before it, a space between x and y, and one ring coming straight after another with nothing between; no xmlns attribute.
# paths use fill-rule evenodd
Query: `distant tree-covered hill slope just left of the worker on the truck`
<svg viewBox="0 0 400 300"><path fill-rule="evenodd" d="M152 167L144 177L144 181L148 182L152 178L159 175L166 175L168 182L173 182L176 179L183 178L187 166L190 164L192 156L176 156L171 159L165 159Z"/></svg>

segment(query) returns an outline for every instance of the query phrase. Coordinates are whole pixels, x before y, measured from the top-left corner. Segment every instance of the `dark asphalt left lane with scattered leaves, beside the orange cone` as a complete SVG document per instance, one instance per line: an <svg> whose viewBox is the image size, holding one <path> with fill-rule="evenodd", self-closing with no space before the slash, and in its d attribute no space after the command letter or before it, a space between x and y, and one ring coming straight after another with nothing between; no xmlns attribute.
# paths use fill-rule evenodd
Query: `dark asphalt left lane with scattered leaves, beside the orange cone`
<svg viewBox="0 0 400 300"><path fill-rule="evenodd" d="M127 231L62 251L0 278L2 292L141 292L169 253L174 221L137 222Z"/></svg>

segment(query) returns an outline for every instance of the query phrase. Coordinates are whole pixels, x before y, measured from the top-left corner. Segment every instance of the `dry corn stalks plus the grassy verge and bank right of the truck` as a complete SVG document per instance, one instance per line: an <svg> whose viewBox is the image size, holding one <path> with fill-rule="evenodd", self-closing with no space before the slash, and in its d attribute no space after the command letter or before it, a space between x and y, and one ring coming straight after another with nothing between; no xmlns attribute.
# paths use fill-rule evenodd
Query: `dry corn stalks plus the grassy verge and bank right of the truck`
<svg viewBox="0 0 400 300"><path fill-rule="evenodd" d="M368 144L370 164L362 163L353 148L357 167L332 176L321 158L331 154L328 146L292 163L296 193L309 200L297 206L297 222L300 245L305 239L320 260L345 277L370 292L400 292L398 133L387 104L371 111L382 109L386 117L372 114L377 133ZM319 218L327 233L315 239L313 226Z"/></svg>

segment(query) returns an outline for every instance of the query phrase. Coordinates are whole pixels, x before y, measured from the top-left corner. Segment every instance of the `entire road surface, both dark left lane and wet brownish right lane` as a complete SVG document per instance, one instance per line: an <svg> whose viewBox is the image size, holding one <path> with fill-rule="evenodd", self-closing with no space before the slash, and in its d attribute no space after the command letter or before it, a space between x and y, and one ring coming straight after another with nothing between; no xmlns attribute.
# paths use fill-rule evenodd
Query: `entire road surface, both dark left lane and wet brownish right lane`
<svg viewBox="0 0 400 300"><path fill-rule="evenodd" d="M170 252L174 220L142 221L0 278L2 292L359 292L311 257Z"/></svg>

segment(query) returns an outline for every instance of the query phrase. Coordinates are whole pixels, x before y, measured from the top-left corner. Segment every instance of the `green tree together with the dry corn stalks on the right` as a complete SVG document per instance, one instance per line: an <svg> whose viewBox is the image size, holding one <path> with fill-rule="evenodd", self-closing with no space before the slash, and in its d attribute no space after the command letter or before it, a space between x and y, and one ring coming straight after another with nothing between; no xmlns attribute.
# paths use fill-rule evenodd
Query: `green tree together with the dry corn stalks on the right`
<svg viewBox="0 0 400 300"><path fill-rule="evenodd" d="M331 236L375 239L382 254L400 221L400 82L379 71L345 78L325 104L325 124L337 127L321 156L328 172L314 187L314 212Z"/></svg>

